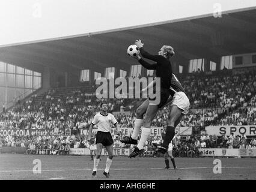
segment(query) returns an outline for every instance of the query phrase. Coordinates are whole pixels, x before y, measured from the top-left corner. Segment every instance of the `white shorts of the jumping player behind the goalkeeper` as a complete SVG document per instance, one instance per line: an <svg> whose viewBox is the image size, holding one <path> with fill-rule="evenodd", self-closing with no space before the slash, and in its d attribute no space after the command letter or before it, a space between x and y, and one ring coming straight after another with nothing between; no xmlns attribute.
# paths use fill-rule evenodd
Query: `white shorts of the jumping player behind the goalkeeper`
<svg viewBox="0 0 256 192"><path fill-rule="evenodd" d="M189 112L189 98L187 95L182 92L176 92L172 98L171 106L177 106L181 110L183 110L182 114L186 115Z"/></svg>

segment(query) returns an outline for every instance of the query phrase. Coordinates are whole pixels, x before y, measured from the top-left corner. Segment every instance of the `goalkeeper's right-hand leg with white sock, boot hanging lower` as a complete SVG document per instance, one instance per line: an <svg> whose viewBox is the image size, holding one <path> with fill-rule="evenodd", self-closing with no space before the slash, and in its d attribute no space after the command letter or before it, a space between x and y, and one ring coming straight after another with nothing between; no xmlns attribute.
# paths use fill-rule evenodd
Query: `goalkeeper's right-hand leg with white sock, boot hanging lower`
<svg viewBox="0 0 256 192"><path fill-rule="evenodd" d="M130 158L136 157L137 155L142 154L144 152L143 148L144 148L145 141L150 136L151 121L153 121L154 116L156 116L157 111L158 111L157 105L155 105L155 104L148 105L147 112L145 113L144 125L141 129L141 139L139 139L138 145L135 146L135 149L128 157L130 157Z"/></svg>

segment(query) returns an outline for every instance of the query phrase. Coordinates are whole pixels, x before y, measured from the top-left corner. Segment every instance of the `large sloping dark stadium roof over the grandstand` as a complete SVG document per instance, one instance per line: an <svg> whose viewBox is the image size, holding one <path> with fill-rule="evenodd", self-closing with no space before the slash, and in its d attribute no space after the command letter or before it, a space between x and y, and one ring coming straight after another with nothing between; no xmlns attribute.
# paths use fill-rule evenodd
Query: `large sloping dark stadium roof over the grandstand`
<svg viewBox="0 0 256 192"><path fill-rule="evenodd" d="M163 44L174 47L178 64L189 59L256 52L256 7L169 20L132 28L114 29L72 37L0 46L0 61L42 72L44 66L70 71L105 67L129 70L136 64L126 51L141 39L148 52L157 53Z"/></svg>

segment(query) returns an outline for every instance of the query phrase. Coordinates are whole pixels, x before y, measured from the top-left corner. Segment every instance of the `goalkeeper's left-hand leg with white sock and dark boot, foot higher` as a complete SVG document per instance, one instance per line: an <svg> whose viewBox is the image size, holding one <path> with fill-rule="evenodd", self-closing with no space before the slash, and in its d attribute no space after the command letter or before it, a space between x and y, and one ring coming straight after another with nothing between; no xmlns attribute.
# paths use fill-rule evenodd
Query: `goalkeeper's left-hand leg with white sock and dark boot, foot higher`
<svg viewBox="0 0 256 192"><path fill-rule="evenodd" d="M143 116L145 112L147 111L147 107L149 104L149 100L145 100L137 109L136 109L136 119L135 119L135 125L132 132L131 137L124 137L124 139L121 140L122 143L126 144L138 144L138 136L139 136L139 130L141 130L141 127L143 125Z"/></svg>

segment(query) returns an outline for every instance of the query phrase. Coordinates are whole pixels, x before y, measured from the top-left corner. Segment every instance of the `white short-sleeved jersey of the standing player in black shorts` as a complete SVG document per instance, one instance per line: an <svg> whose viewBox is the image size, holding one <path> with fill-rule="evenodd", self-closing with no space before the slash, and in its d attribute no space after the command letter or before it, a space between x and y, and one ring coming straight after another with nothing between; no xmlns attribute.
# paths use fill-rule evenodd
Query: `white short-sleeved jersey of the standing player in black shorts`
<svg viewBox="0 0 256 192"><path fill-rule="evenodd" d="M91 123L94 125L97 124L98 131L110 132L111 123L115 125L117 123L117 120L111 113L108 113L108 115L106 116L102 115L102 113L97 113Z"/></svg>

